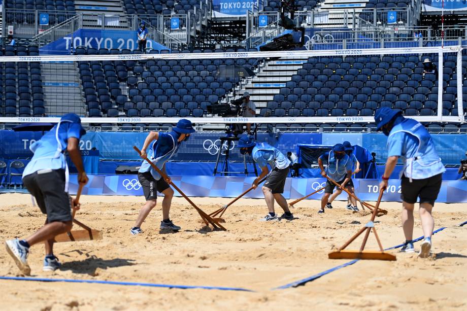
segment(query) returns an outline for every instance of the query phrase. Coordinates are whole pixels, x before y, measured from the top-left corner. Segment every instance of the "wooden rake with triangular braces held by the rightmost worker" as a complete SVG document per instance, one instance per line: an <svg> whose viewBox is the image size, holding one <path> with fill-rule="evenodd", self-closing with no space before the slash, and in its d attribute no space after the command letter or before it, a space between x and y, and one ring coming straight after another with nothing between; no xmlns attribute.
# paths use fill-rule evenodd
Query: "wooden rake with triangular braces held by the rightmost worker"
<svg viewBox="0 0 467 311"><path fill-rule="evenodd" d="M378 201L376 202L375 209L372 213L372 218L370 222L368 222L363 228L361 228L354 236L352 236L339 250L336 252L331 252L328 254L329 259L374 259L374 260L396 260L395 256L389 253L385 253L383 250L383 246L381 245L381 241L378 237L378 233L376 233L375 228L375 217L378 213L379 204L381 202L381 198L383 197L384 190L381 189ZM365 231L365 236L363 238L363 243L361 244L359 251L346 251L345 248L349 246L360 234ZM376 241L378 242L379 251L365 251L366 241L370 235L370 231L373 230L375 233Z"/></svg>

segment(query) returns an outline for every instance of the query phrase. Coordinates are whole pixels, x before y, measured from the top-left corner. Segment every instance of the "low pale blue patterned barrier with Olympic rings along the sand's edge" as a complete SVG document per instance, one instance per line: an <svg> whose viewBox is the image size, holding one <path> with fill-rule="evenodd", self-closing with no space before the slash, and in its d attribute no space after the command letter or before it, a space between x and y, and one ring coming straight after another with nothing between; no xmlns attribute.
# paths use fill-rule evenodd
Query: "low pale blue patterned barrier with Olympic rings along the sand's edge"
<svg viewBox="0 0 467 311"><path fill-rule="evenodd" d="M213 176L171 176L172 181L188 196L199 197L236 197L251 187L254 177L213 177ZM325 185L323 178L288 178L284 187L286 199L296 199L318 190ZM362 200L376 201L379 194L379 181L374 179L354 179L355 193ZM70 178L70 192L78 189L77 175ZM399 180L389 180L383 201L401 201ZM136 175L90 175L84 187L87 195L143 195L143 189ZM310 199L319 200L323 191ZM180 194L176 191L176 196ZM247 198L263 198L261 188L250 191ZM142 198L143 199L143 198ZM339 199L347 199L343 193ZM467 202L467 181L443 181L437 202Z"/></svg>

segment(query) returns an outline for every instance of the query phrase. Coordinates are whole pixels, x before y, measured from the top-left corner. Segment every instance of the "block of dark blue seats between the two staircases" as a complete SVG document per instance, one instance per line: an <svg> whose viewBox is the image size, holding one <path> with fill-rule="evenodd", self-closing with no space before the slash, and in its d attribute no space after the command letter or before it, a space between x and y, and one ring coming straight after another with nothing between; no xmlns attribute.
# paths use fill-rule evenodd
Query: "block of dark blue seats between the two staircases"
<svg viewBox="0 0 467 311"><path fill-rule="evenodd" d="M76 49L77 55L120 52L141 53L138 50ZM172 53L180 52L189 51L172 50ZM219 68L233 64L254 69L258 60L91 61L80 62L79 71L90 117L109 114L129 117L203 116L208 106L225 98L239 83L239 78L216 76Z"/></svg>

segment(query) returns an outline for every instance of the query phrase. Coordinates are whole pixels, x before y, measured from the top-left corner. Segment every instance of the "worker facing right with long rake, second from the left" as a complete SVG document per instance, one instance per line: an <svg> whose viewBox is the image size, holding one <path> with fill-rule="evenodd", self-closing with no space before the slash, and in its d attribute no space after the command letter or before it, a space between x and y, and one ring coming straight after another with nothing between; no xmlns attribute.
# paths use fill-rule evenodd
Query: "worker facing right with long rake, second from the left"
<svg viewBox="0 0 467 311"><path fill-rule="evenodd" d="M194 131L191 121L187 119L179 120L177 126L173 127L170 133L151 131L144 141L143 148L141 148L141 157L143 159L148 157L161 171L165 172L165 163L177 153L182 142L187 141L190 137L190 133ZM146 154L146 149L148 149L148 147L149 150ZM141 230L141 225L146 217L148 217L151 210L156 206L157 191L164 195L162 200L162 221L160 222L160 230L180 230L180 227L176 226L169 218L170 205L172 203L172 197L174 196L174 190L169 186L172 182L170 178L164 180L159 173L144 160L138 170L138 180L143 188L146 203L138 215L135 226L130 230L131 234L137 235L143 232Z"/></svg>

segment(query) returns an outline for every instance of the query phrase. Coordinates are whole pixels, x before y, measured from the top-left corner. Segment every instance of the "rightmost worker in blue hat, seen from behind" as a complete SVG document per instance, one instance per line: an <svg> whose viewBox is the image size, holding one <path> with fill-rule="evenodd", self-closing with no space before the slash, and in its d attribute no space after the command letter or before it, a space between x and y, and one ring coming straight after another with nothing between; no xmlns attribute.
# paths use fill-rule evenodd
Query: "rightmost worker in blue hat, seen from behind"
<svg viewBox="0 0 467 311"><path fill-rule="evenodd" d="M431 135L418 121L406 119L401 111L380 108L375 113L378 129L388 136L388 158L380 189L386 189L389 177L399 157L404 167L401 171L402 226L406 241L402 252L413 253L414 205L420 198L420 221L424 240L419 257L428 257L431 250L431 233L435 222L431 210L440 192L442 175L446 171L435 149Z"/></svg>

